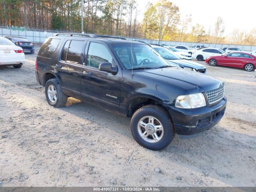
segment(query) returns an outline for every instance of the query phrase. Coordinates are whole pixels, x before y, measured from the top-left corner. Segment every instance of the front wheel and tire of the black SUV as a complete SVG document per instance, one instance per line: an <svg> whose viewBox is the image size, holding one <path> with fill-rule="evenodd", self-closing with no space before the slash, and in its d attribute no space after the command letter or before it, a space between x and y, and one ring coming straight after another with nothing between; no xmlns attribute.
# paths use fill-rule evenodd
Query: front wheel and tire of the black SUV
<svg viewBox="0 0 256 192"><path fill-rule="evenodd" d="M130 127L136 142L150 150L166 148L175 136L170 115L155 105L138 109L132 116Z"/></svg>

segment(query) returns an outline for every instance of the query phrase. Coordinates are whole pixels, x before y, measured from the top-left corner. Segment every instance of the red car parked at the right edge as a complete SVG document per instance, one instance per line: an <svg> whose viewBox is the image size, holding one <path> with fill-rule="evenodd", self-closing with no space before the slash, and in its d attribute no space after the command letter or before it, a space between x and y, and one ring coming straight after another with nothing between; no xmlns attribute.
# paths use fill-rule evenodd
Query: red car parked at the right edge
<svg viewBox="0 0 256 192"><path fill-rule="evenodd" d="M222 56L209 56L205 60L210 66L227 66L252 71L256 66L256 56L243 52L232 52Z"/></svg>

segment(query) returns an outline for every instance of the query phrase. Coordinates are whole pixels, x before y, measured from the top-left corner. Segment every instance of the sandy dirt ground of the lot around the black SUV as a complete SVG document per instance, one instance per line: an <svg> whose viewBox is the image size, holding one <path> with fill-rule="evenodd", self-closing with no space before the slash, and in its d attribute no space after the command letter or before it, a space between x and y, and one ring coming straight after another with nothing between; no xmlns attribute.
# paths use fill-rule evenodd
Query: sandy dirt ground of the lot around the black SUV
<svg viewBox="0 0 256 192"><path fill-rule="evenodd" d="M197 138L176 136L151 151L134 141L129 118L73 98L48 105L35 59L0 67L0 186L256 186L252 72L206 65L226 84L224 118Z"/></svg>

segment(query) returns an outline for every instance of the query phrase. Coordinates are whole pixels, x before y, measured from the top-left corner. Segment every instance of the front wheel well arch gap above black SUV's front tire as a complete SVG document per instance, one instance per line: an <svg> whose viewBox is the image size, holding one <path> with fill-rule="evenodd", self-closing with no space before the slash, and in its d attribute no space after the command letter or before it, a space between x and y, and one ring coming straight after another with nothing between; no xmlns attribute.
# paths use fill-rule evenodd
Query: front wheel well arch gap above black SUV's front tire
<svg viewBox="0 0 256 192"><path fill-rule="evenodd" d="M140 97L140 98L136 98L130 102L130 104L128 106L128 110L127 110L127 116L132 117L132 115L134 114L134 112L136 112L136 110L138 110L139 108L146 106L146 105L160 106L164 110L166 110L166 112L168 112L168 110L160 102L158 102L154 99L151 99L151 98ZM169 114L169 112L168 112L168 114Z"/></svg>

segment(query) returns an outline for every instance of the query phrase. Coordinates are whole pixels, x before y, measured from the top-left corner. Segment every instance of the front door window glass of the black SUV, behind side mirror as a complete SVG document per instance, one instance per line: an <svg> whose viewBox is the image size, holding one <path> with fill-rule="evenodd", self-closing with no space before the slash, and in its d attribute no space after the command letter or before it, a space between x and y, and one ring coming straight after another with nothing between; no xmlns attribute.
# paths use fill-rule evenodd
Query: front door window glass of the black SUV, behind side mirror
<svg viewBox="0 0 256 192"><path fill-rule="evenodd" d="M112 63L112 56L106 46L100 43L90 42L88 56L87 56L87 66L99 68L100 63L110 62Z"/></svg>

